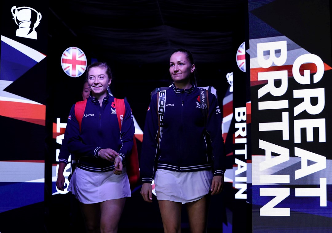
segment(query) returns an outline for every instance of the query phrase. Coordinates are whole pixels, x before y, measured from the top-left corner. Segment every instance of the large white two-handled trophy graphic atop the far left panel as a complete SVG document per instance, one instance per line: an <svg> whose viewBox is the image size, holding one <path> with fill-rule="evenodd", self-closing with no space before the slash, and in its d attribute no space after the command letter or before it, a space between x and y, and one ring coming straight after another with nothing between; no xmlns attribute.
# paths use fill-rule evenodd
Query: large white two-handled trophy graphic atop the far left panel
<svg viewBox="0 0 332 233"><path fill-rule="evenodd" d="M19 26L16 30L17 37L25 37L37 40L35 28L41 20L41 13L31 7L12 7L15 23Z"/></svg>

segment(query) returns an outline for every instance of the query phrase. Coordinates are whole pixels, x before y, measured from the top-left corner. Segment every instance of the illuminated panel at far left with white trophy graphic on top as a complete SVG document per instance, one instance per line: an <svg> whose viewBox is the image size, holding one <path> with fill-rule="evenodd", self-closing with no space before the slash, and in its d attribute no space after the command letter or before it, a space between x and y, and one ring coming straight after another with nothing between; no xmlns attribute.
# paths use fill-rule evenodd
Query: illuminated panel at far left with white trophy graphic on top
<svg viewBox="0 0 332 233"><path fill-rule="evenodd" d="M35 213L35 204L44 201L48 6L2 1L0 9L0 213L4 221L0 231L4 231L11 212L24 207Z"/></svg>

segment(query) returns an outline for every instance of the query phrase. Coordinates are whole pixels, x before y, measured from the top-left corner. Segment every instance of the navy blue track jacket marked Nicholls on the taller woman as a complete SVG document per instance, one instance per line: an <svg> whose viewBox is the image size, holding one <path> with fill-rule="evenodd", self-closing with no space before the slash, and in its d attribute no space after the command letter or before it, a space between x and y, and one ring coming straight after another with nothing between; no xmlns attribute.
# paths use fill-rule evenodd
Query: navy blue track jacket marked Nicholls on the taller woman
<svg viewBox="0 0 332 233"><path fill-rule="evenodd" d="M224 176L225 151L222 138L222 113L215 95L208 92L209 111L206 120L200 108L200 89L172 87L163 96L152 96L146 113L140 174L143 183L152 183L156 169L194 172L212 169ZM158 111L161 113L158 117ZM162 135L158 146L158 121Z"/></svg>

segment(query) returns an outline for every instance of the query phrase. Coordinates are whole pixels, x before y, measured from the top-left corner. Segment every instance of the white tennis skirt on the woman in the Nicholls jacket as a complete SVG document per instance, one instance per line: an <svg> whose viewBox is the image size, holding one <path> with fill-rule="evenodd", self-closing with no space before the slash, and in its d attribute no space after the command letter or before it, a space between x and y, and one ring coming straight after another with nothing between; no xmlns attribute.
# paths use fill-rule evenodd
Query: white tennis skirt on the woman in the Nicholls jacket
<svg viewBox="0 0 332 233"><path fill-rule="evenodd" d="M211 190L212 171L174 172L157 169L154 176L157 200L192 202Z"/></svg>

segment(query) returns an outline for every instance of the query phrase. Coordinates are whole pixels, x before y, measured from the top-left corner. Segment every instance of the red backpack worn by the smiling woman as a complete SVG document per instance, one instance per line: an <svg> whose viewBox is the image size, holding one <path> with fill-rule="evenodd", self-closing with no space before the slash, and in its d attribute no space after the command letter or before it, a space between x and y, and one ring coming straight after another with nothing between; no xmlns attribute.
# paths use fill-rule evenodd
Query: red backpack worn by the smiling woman
<svg viewBox="0 0 332 233"><path fill-rule="evenodd" d="M84 114L84 110L85 110L85 106L86 106L86 101L87 100L79 101L75 104L75 116L78 121L80 131L81 131L83 114ZM121 122L120 116L124 115L124 113L125 113L124 99L114 98L114 104L115 104L115 109L117 112L119 127L120 127L120 131L121 131L122 122ZM131 149L131 154L129 155L129 158L126 158L127 175L129 178L131 190L133 190L136 187L136 184L139 179L139 162L138 162L138 153L137 153L135 135L133 138L133 142L134 142L134 145Z"/></svg>

